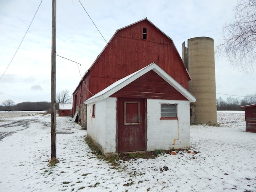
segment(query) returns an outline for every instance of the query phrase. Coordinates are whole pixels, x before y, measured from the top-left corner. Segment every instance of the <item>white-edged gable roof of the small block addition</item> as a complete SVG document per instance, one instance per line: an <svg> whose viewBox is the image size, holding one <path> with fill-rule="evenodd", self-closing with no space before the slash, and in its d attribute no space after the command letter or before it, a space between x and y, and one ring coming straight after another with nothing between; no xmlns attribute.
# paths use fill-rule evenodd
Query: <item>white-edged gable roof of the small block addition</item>
<svg viewBox="0 0 256 192"><path fill-rule="evenodd" d="M146 74L150 70L153 70L158 74L160 77L162 77L166 82L168 82L172 87L174 87L180 94L182 94L185 98L187 98L190 102L196 102L196 98L188 92L183 86L181 86L174 78L172 78L168 73L166 73L162 68L160 68L156 63L152 63L116 82L105 88L104 90L98 92L94 96L88 98L84 102L84 104L96 102L99 100L104 100L114 94L115 92L119 91L120 89L124 88L126 85L130 84L134 80L138 79L142 75Z"/></svg>

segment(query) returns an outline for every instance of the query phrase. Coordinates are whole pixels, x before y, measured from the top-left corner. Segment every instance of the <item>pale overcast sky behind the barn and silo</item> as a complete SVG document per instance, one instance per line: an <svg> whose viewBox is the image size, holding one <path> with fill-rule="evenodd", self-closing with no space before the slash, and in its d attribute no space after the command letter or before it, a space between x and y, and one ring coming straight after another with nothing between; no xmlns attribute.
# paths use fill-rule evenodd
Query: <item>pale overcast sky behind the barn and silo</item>
<svg viewBox="0 0 256 192"><path fill-rule="evenodd" d="M42 4L12 60L41 0L0 0L0 104L51 100L52 0ZM80 0L108 42L116 30L148 18L174 41L207 36L218 45L222 25L233 20L236 0ZM106 45L78 0L57 0L56 92L70 94ZM12 60L12 62L11 62ZM10 63L11 62L11 63ZM256 74L232 68L215 57L216 96L256 93ZM107 70L107 69L106 69ZM80 72L79 72L80 71ZM81 76L80 76L81 74ZM242 99L243 97L239 97Z"/></svg>

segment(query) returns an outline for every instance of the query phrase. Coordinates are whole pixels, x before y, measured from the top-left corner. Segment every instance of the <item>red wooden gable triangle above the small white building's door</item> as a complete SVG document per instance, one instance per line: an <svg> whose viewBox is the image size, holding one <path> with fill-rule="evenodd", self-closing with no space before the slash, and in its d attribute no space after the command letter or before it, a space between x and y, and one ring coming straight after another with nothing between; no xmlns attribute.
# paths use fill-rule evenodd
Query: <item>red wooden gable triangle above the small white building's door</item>
<svg viewBox="0 0 256 192"><path fill-rule="evenodd" d="M187 100L152 70L120 89L111 97Z"/></svg>

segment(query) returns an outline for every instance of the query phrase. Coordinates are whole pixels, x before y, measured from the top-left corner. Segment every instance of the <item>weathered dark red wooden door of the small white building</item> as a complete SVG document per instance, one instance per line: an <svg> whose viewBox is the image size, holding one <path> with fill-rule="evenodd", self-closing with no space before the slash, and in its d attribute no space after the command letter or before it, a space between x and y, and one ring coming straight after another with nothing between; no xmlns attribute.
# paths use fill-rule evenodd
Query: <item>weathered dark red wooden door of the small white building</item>
<svg viewBox="0 0 256 192"><path fill-rule="evenodd" d="M145 99L118 98L118 152L145 150Z"/></svg>

